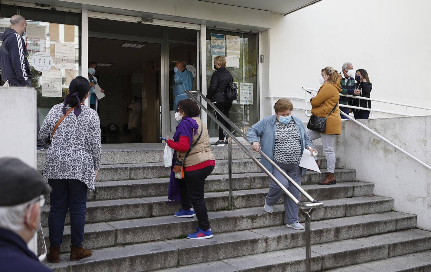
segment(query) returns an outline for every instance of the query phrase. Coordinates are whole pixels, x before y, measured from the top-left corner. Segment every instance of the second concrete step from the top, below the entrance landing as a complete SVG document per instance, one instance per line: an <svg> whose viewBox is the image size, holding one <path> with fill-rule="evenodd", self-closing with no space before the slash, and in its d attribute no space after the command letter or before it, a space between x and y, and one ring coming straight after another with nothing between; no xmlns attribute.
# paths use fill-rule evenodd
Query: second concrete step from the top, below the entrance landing
<svg viewBox="0 0 431 272"><path fill-rule="evenodd" d="M322 161L322 169L326 168L326 158L319 157ZM338 158L335 168L338 167ZM37 168L41 173L43 167ZM261 169L251 159L248 160L233 160L232 172L240 173L259 173ZM169 177L171 173L170 167L165 167L163 163L147 163L147 164L105 164L100 167L97 181L112 181L126 179L153 179ZM228 174L228 161L218 160L215 162L212 175Z"/></svg>

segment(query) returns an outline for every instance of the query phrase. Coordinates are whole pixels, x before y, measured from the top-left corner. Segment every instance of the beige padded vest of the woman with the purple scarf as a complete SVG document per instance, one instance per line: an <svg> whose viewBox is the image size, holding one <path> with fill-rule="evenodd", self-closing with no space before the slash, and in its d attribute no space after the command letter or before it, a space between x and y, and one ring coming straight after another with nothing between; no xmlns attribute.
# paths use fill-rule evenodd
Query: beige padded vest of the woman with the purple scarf
<svg viewBox="0 0 431 272"><path fill-rule="evenodd" d="M184 167L189 167L195 164L200 164L204 161L215 161L214 155L212 155L211 149L209 149L209 136L208 136L208 130L206 128L206 125L202 123L202 127L200 125L200 118L199 117L192 117L193 120L196 121L198 125L198 133L196 135L193 135L193 143L196 141L196 139L199 137L200 130L202 130L202 136L200 136L199 142L195 145L195 147L190 151L188 157L186 158L184 162ZM194 133L193 133L194 134ZM186 155L186 152L177 152L178 160L182 161L184 156Z"/></svg>

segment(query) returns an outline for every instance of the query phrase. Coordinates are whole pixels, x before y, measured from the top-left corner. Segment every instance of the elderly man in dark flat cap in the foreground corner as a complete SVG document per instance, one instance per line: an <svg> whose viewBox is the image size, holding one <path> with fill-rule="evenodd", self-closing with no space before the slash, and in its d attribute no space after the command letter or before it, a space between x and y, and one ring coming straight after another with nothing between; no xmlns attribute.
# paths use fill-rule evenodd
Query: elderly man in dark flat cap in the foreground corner
<svg viewBox="0 0 431 272"><path fill-rule="evenodd" d="M51 271L27 247L39 227L50 186L16 158L0 158L0 177L0 271Z"/></svg>

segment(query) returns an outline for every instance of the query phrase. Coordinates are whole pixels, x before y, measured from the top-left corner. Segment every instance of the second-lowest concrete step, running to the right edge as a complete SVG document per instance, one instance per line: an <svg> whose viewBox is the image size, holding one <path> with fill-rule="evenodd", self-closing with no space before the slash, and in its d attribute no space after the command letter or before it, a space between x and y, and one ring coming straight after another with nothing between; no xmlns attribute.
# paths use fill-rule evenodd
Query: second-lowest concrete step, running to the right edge
<svg viewBox="0 0 431 272"><path fill-rule="evenodd" d="M255 243L257 244L257 243ZM311 265L312 271L323 271L333 269L340 266L346 266L356 263L369 262L373 260L382 260L388 257L395 257L404 254L411 254L416 251L425 251L431 248L431 232L421 229L408 229L403 231L378 234L369 237L362 237L350 240L334 241L324 244L312 246ZM263 251L262 248L259 248ZM257 250L259 250L257 249ZM200 255L204 255L204 248L200 247ZM231 253L238 253L231 248L226 248L224 251L231 250ZM255 251L257 251L255 250ZM198 254L197 250L189 251L188 254ZM244 252L240 252L244 253ZM211 255L215 254L211 251ZM284 250L270 251L257 253L247 256L240 256L228 259L222 259L207 263L199 263L196 265L182 266L181 255L179 250L180 267L175 269L166 269L164 271L305 271L305 248L295 247ZM427 253L428 254L428 253ZM226 254L227 255L227 254ZM196 255L194 255L196 256ZM422 258L422 260L426 260ZM389 264L390 265L390 264ZM206 268L217 268L217 270L207 270ZM395 271L393 266L386 270L372 271ZM354 271L354 270L339 270L339 271ZM359 270L364 271L364 270ZM370 270L365 270L370 271ZM404 271L404 270L403 270ZM413 270L416 271L416 270Z"/></svg>

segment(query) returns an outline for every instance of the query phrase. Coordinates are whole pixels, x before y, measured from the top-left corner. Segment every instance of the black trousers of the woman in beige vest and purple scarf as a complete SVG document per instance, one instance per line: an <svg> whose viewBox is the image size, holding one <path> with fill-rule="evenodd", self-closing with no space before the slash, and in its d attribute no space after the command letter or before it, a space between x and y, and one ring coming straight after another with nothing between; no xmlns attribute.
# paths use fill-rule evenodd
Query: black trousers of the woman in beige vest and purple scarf
<svg viewBox="0 0 431 272"><path fill-rule="evenodd" d="M208 212L204 197L205 179L211 174L213 166L208 166L199 170L187 171L184 179L180 181L181 205L184 210L194 208L199 228L209 229Z"/></svg>

